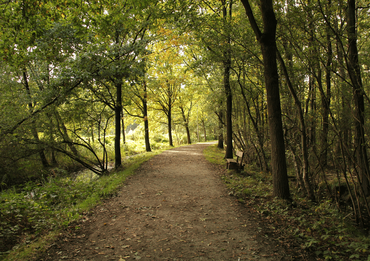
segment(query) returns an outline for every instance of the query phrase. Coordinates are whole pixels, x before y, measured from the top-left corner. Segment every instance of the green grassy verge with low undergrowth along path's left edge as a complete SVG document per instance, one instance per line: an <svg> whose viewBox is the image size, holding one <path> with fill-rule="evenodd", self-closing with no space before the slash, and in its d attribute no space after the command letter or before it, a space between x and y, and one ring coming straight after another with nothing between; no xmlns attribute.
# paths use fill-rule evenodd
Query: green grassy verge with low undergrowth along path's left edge
<svg viewBox="0 0 370 261"><path fill-rule="evenodd" d="M122 162L122 171L96 179L49 176L37 184L27 182L3 191L0 194L0 260L26 260L36 251L45 250L48 240L102 198L114 194L135 169L161 151L128 157Z"/></svg>

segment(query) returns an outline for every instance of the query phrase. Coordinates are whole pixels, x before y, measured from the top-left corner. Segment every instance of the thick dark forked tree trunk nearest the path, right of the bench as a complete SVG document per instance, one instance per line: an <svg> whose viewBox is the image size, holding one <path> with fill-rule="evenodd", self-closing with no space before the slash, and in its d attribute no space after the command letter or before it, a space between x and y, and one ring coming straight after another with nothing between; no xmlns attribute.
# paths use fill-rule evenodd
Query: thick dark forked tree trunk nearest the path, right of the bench
<svg viewBox="0 0 370 261"><path fill-rule="evenodd" d="M277 20L273 10L272 0L260 0L260 10L263 21L263 33L260 31L248 0L241 0L248 16L250 25L260 44L265 86L267 110L271 138L271 167L273 175L274 197L290 199L288 175L285 158L285 142L281 115L279 75L276 63L276 25Z"/></svg>

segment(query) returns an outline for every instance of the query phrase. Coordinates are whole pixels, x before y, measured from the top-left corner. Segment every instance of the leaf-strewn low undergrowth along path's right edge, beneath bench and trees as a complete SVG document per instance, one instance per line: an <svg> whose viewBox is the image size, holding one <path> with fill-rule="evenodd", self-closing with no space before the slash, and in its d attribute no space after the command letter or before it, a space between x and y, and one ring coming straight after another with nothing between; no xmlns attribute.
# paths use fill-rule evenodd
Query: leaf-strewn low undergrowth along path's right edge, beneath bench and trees
<svg viewBox="0 0 370 261"><path fill-rule="evenodd" d="M224 151L216 146L203 153L210 162L226 165ZM248 166L240 173L228 171L221 179L229 194L265 218L266 230L279 244L314 252L317 260L370 260L370 240L331 200L307 201L294 182L290 182L292 203L273 198L271 174Z"/></svg>

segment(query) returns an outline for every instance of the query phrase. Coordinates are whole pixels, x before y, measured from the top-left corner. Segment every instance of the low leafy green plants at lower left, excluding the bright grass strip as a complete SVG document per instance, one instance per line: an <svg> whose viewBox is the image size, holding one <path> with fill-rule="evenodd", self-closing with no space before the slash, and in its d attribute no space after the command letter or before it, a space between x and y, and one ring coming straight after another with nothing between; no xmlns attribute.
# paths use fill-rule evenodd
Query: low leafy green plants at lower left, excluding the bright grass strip
<svg viewBox="0 0 370 261"><path fill-rule="evenodd" d="M65 227L77 214L75 205L87 197L82 189L64 179L49 177L42 184L27 182L1 194L1 252L23 240L30 243L44 230Z"/></svg>

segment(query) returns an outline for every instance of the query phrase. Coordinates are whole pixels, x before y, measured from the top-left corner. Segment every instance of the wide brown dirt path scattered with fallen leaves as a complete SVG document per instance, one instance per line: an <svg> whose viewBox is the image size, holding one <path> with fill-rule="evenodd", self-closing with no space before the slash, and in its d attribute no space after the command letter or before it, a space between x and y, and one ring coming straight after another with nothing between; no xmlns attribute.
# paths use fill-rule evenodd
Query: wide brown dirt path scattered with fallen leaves
<svg viewBox="0 0 370 261"><path fill-rule="evenodd" d="M316 260L274 238L266 217L229 196L226 170L202 155L209 145L154 156L37 260Z"/></svg>

